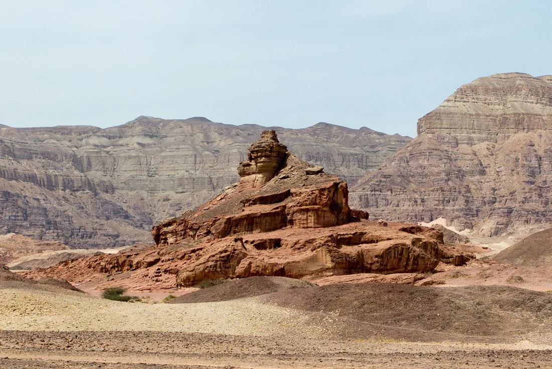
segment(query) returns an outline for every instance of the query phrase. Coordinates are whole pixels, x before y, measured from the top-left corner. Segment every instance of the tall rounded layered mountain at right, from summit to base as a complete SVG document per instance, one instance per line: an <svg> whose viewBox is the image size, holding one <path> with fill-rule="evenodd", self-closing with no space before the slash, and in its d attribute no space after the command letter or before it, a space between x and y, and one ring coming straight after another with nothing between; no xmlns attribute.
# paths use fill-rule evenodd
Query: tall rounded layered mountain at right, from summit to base
<svg viewBox="0 0 552 369"><path fill-rule="evenodd" d="M374 217L501 235L552 223L552 80L479 78L418 120L418 136L352 188Z"/></svg>

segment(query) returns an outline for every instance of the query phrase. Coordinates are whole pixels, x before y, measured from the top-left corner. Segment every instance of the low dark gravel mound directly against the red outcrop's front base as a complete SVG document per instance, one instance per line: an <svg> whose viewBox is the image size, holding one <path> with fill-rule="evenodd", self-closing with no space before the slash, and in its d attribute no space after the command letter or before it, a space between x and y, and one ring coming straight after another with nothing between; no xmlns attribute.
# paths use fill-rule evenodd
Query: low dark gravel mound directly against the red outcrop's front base
<svg viewBox="0 0 552 369"><path fill-rule="evenodd" d="M222 284L200 289L173 299L171 304L186 304L196 302L229 301L244 297L260 296L262 294L282 292L293 293L305 288L317 287L305 281L285 277L248 277L230 280Z"/></svg>

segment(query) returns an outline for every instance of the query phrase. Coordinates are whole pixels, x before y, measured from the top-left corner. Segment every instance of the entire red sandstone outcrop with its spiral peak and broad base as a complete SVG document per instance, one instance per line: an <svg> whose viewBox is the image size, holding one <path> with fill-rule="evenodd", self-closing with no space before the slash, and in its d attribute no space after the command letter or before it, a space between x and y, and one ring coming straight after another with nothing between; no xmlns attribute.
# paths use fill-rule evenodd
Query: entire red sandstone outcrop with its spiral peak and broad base
<svg viewBox="0 0 552 369"><path fill-rule="evenodd" d="M30 276L78 282L93 273L142 288L192 286L249 276L314 278L431 271L443 234L411 224L369 222L348 206L347 183L300 160L266 131L238 167L240 182L153 227L155 247L67 261Z"/></svg>

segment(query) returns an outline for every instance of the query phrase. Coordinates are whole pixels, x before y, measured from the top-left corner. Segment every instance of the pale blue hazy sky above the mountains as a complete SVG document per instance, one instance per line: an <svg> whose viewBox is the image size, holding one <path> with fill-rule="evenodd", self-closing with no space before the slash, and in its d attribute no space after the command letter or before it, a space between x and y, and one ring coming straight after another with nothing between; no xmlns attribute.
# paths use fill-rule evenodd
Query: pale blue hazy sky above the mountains
<svg viewBox="0 0 552 369"><path fill-rule="evenodd" d="M140 115L415 136L464 83L552 74L552 2L0 0L0 124Z"/></svg>

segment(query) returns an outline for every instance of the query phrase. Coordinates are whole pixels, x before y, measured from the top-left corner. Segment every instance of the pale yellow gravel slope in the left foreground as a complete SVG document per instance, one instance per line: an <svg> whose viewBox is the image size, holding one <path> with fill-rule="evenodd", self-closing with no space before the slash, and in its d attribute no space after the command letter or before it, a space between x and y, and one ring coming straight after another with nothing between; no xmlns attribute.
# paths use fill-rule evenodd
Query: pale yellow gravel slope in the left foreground
<svg viewBox="0 0 552 369"><path fill-rule="evenodd" d="M252 300L200 304L120 303L55 288L0 289L0 330L184 331L282 336L316 332L304 314Z"/></svg>

